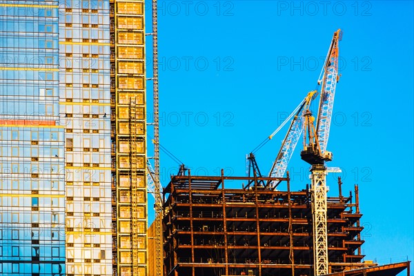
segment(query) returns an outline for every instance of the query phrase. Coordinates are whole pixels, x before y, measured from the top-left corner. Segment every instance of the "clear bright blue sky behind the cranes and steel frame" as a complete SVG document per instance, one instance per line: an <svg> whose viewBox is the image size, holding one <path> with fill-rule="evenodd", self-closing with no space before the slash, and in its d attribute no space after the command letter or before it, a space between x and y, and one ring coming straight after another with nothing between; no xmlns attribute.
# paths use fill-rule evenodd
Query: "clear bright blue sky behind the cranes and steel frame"
<svg viewBox="0 0 414 276"><path fill-rule="evenodd" d="M245 155L315 88L338 28L328 166L344 193L359 184L366 259L413 260L412 1L159 1L160 142L193 174L244 175ZM286 131L257 152L265 174ZM300 148L297 190L309 182ZM161 153L164 186L177 166ZM328 186L336 196L334 175Z"/></svg>

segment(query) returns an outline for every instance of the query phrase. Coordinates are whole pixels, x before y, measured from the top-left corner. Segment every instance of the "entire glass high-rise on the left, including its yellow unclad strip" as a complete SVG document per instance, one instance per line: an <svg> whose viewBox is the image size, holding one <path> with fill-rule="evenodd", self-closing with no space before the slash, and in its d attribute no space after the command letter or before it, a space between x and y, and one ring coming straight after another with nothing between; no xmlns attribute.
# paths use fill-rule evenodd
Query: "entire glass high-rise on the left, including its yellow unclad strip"
<svg viewBox="0 0 414 276"><path fill-rule="evenodd" d="M144 1L0 1L0 274L147 275Z"/></svg>

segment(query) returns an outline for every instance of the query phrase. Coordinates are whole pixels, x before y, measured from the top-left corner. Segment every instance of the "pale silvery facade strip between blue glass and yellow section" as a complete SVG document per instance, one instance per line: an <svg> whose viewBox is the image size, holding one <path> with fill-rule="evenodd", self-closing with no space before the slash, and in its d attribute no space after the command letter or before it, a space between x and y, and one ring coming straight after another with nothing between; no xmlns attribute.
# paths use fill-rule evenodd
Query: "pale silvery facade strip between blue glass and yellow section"
<svg viewBox="0 0 414 276"><path fill-rule="evenodd" d="M68 275L112 275L109 0L59 5Z"/></svg>

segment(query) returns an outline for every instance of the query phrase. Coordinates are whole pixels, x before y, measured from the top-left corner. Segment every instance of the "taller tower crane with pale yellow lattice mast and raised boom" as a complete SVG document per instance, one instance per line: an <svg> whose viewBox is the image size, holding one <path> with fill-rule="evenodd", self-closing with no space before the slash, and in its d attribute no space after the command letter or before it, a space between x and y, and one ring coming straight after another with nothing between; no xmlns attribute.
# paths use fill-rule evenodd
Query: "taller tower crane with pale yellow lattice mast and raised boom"
<svg viewBox="0 0 414 276"><path fill-rule="evenodd" d="M315 118L311 110L304 112L304 150L302 160L311 164L312 178L312 214L313 214L313 269L314 275L328 274L328 237L326 221L326 173L325 162L332 160L332 152L326 150L335 97L336 83L339 81L338 57L339 41L342 39L341 30L333 34L331 46L326 56L324 67L319 75L318 85L321 85L319 108ZM322 79L321 79L322 76Z"/></svg>

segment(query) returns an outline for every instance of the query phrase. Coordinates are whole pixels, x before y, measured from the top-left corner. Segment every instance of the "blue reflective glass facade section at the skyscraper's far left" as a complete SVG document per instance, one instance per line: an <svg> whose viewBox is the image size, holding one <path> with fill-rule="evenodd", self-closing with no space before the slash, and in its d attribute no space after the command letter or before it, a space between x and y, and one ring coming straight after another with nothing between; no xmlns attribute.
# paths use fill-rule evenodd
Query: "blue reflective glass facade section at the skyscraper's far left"
<svg viewBox="0 0 414 276"><path fill-rule="evenodd" d="M58 2L0 1L0 274L63 275Z"/></svg>

